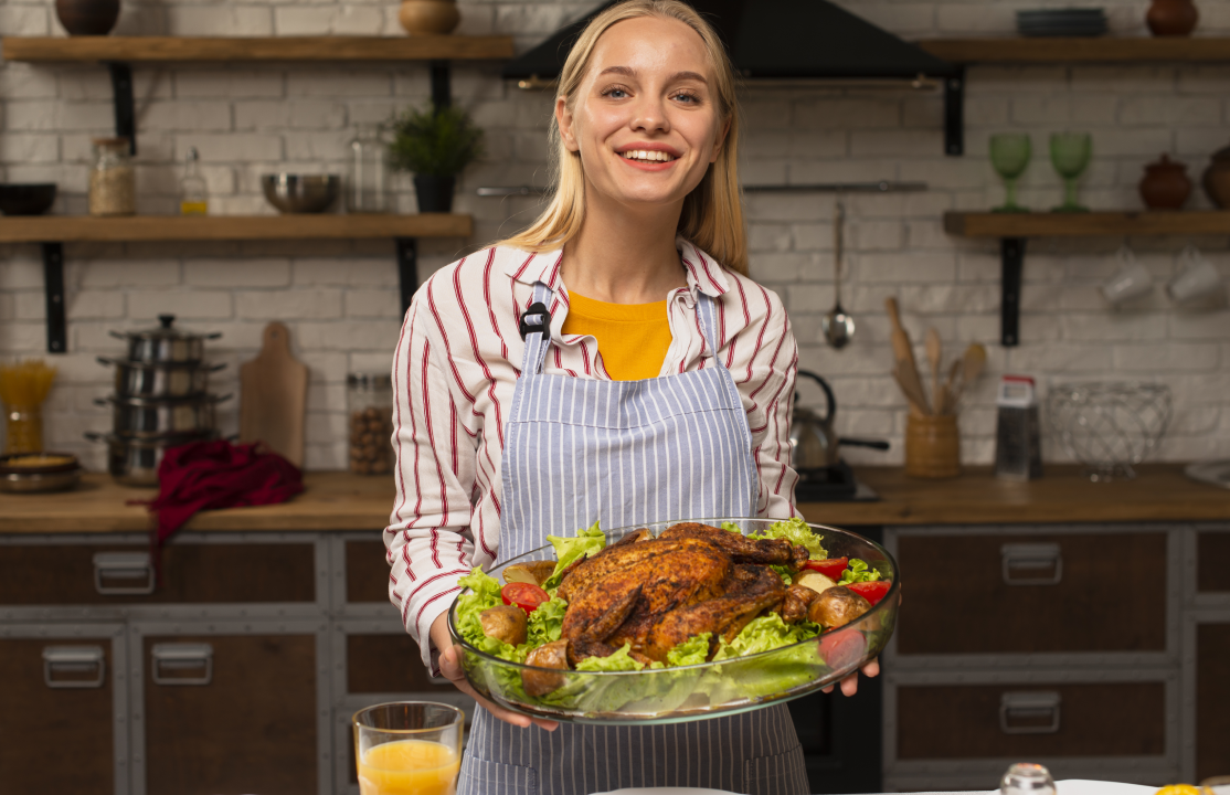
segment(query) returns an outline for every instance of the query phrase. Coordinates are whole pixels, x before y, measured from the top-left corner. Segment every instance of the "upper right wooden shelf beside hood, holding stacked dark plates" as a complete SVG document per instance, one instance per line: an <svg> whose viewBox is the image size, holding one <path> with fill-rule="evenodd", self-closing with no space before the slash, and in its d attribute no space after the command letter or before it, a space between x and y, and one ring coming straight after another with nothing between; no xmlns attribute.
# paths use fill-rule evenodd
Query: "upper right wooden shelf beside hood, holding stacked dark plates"
<svg viewBox="0 0 1230 795"><path fill-rule="evenodd" d="M1230 38L931 38L914 43L957 64L1230 62Z"/></svg>

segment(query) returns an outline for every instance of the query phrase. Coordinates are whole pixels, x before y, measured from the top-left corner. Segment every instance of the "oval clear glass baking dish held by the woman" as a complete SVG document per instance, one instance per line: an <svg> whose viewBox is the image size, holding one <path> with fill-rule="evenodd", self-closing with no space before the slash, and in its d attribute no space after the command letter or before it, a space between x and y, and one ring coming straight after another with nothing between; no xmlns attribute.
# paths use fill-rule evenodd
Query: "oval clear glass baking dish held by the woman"
<svg viewBox="0 0 1230 795"><path fill-rule="evenodd" d="M721 527L737 525L744 535L768 529L775 519L696 519ZM622 535L648 529L654 537L676 522L606 530L608 545ZM654 725L732 715L787 701L833 684L877 657L893 634L900 602L897 561L888 551L856 533L808 524L823 538L829 557L857 557L891 581L883 598L854 621L824 634L770 651L692 666L641 671L560 671L510 662L486 653L461 639L458 601L449 608L449 630L461 647L466 679L478 693L510 710L577 724ZM541 546L492 567L491 576L504 583L503 572L513 564L554 561L555 548ZM469 593L464 589L460 596ZM523 674L552 687L535 697L526 693ZM539 688L541 689L541 688Z"/></svg>

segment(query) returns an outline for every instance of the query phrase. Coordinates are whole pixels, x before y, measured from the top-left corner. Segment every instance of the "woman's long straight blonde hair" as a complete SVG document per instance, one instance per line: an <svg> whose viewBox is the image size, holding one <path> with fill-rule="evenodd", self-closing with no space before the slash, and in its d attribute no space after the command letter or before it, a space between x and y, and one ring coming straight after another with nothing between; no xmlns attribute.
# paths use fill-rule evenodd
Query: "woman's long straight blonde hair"
<svg viewBox="0 0 1230 795"><path fill-rule="evenodd" d="M720 128L728 126L726 143L717 160L710 165L700 185L684 198L679 234L726 267L747 276L748 241L739 191L739 116L734 96L734 70L717 33L691 6L680 0L626 0L595 16L568 53L563 71L560 73L556 101L562 97L569 108L573 107L581 81L589 71L594 47L608 28L624 20L646 16L679 20L701 37L715 78L717 123ZM528 251L551 251L560 249L581 231L581 222L585 215L585 175L581 153L569 151L565 146L560 124L554 118L551 143L555 150L551 202L528 229L501 245Z"/></svg>

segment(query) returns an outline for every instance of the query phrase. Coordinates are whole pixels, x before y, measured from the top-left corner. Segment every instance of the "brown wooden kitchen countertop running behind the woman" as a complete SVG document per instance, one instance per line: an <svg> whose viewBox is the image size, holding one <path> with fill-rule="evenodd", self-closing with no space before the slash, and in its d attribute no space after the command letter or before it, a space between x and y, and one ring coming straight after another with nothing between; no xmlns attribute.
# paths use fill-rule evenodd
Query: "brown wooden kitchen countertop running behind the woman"
<svg viewBox="0 0 1230 795"><path fill-rule="evenodd" d="M954 480L913 480L898 468L865 468L857 475L879 502L802 505L808 521L838 527L868 524L1027 524L1064 522L1230 521L1230 491L1183 476L1178 464L1139 468L1137 480L1095 484L1076 466L1048 466L1030 484L995 480L972 468ZM191 530L379 530L389 521L394 485L386 477L308 473L304 493L290 502L207 511ZM154 491L89 474L75 491L0 493L0 533L145 532L149 516L133 500Z"/></svg>

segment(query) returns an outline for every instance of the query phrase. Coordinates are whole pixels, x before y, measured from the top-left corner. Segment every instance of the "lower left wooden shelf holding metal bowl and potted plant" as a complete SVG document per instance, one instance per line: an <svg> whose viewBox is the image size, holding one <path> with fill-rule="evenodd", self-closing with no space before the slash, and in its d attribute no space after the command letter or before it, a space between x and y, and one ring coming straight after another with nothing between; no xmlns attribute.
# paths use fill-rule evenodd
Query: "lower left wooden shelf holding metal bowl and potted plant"
<svg viewBox="0 0 1230 795"><path fill-rule="evenodd" d="M0 242L149 240L323 240L341 238L469 238L474 218L417 215L42 215L0 219Z"/></svg>

